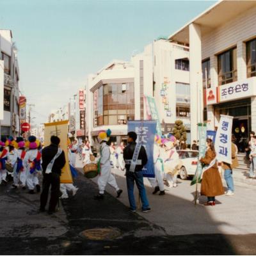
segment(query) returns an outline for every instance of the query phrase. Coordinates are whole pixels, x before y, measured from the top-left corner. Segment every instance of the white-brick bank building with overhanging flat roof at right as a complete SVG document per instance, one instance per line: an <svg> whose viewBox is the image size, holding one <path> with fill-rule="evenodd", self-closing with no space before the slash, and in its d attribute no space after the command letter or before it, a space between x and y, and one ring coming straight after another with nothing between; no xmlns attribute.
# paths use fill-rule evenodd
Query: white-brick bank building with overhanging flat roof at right
<svg viewBox="0 0 256 256"><path fill-rule="evenodd" d="M234 116L237 138L256 131L255 22L255 1L220 1L170 36L189 44L191 108L198 109L191 126L203 119L204 86L209 129L223 114Z"/></svg>

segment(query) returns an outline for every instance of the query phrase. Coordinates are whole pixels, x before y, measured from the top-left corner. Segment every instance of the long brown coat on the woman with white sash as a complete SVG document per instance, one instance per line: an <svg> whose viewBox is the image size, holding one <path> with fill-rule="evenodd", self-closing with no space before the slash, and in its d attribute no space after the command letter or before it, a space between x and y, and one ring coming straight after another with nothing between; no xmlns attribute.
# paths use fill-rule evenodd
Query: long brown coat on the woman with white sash
<svg viewBox="0 0 256 256"><path fill-rule="evenodd" d="M203 164L210 164L211 161L216 157L211 148L208 148L205 152L205 157L200 159ZM201 184L201 195L204 196L220 196L224 194L224 189L220 177L220 172L218 171L218 166L216 163L204 172Z"/></svg>

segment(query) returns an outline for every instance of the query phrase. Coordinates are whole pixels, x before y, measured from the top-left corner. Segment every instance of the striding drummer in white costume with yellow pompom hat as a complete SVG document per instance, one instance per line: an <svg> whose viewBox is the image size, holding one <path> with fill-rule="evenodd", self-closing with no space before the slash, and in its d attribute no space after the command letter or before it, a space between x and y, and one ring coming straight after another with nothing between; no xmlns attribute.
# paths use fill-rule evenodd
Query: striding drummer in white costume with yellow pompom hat
<svg viewBox="0 0 256 256"><path fill-rule="evenodd" d="M118 188L118 185L116 184L116 179L113 174L111 174L111 164L109 161L110 150L109 146L107 145L110 134L111 131L109 129L107 131L100 131L98 134L98 140L100 142L100 175L98 179L99 194L94 197L97 200L104 198L104 191L107 183L116 189L116 197L119 197L123 192L122 189Z"/></svg>

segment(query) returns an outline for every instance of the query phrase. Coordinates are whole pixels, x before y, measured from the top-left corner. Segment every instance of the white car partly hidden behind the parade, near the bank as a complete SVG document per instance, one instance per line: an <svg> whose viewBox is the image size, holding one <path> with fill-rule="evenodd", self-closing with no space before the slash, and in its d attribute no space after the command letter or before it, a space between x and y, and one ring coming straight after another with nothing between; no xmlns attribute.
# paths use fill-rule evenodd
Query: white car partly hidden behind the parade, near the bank
<svg viewBox="0 0 256 256"><path fill-rule="evenodd" d="M196 166L198 162L198 150L177 150L179 159L182 161L180 168L180 179L186 180L188 176L194 175L196 172Z"/></svg>

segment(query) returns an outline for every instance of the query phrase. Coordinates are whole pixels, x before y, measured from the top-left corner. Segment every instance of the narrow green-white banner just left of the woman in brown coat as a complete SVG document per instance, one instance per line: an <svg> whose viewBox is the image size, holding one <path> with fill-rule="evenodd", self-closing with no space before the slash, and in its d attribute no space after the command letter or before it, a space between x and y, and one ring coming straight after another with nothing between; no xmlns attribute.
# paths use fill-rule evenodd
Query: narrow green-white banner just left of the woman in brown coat
<svg viewBox="0 0 256 256"><path fill-rule="evenodd" d="M205 152L206 152L206 124L202 124L202 123L198 124L198 138L199 138L198 163L197 163L195 175L190 185L194 185L200 182L200 179L202 176L203 167L202 167L202 164L200 163L200 159L201 157L205 156Z"/></svg>

